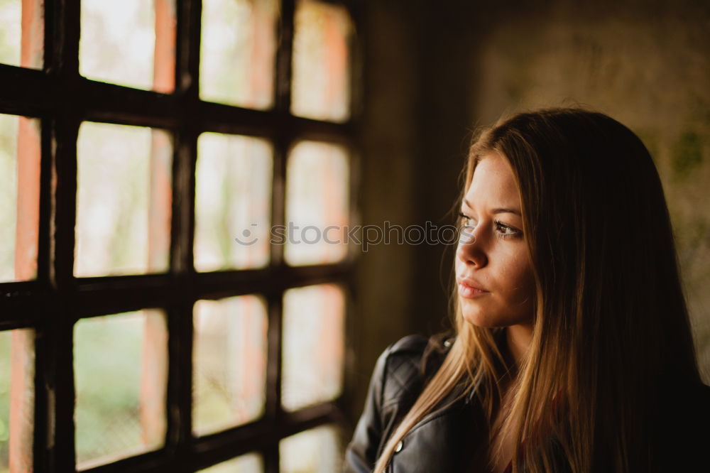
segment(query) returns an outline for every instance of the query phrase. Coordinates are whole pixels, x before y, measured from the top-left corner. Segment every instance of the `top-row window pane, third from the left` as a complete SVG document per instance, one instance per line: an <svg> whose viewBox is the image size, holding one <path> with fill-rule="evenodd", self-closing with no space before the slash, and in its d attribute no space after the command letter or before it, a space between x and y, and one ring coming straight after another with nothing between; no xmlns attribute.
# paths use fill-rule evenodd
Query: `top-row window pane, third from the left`
<svg viewBox="0 0 710 473"><path fill-rule="evenodd" d="M277 0L202 0L202 99L271 107L277 18Z"/></svg>

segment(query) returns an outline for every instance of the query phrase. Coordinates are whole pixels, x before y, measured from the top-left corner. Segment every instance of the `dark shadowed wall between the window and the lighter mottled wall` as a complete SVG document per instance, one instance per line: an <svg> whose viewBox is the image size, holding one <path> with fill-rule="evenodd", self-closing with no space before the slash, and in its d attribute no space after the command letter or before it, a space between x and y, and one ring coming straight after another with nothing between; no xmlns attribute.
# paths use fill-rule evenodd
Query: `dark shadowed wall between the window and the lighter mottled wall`
<svg viewBox="0 0 710 473"><path fill-rule="evenodd" d="M416 1L364 4L361 224L452 223L447 212L459 192L471 129L466 104L473 89L468 74L461 74L466 67L461 58L470 47L459 40L466 23L454 9L447 12ZM391 242L360 254L352 324L356 413L376 358L388 344L444 327L442 285L449 282L452 264L450 257L448 263L442 259L446 250Z"/></svg>

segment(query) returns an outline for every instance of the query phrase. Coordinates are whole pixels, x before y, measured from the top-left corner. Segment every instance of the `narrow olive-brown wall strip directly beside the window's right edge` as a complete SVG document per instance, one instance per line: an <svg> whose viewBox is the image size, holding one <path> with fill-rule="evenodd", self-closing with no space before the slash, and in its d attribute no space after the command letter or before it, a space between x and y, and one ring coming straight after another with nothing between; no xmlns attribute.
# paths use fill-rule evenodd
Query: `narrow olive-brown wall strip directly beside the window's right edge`
<svg viewBox="0 0 710 473"><path fill-rule="evenodd" d="M413 18L401 5L370 2L362 12L364 38L361 116L360 224L406 225L413 219L418 81ZM373 244L361 251L356 271L354 320L354 411L364 402L378 354L411 330L410 274L413 248Z"/></svg>

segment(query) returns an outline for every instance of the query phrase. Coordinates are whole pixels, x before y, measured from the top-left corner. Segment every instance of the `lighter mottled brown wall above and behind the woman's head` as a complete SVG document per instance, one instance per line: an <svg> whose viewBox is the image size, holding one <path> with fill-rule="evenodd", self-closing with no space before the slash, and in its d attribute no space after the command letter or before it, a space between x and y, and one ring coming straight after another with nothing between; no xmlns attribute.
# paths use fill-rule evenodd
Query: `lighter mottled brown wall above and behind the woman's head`
<svg viewBox="0 0 710 473"><path fill-rule="evenodd" d="M710 4L613 5L580 9L557 1L524 16L506 12L506 21L490 25L471 58L481 80L470 106L487 124L506 110L581 104L643 139L672 214L708 382Z"/></svg>

